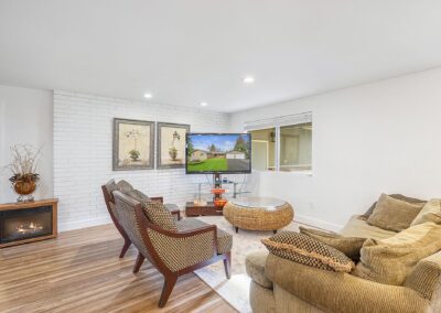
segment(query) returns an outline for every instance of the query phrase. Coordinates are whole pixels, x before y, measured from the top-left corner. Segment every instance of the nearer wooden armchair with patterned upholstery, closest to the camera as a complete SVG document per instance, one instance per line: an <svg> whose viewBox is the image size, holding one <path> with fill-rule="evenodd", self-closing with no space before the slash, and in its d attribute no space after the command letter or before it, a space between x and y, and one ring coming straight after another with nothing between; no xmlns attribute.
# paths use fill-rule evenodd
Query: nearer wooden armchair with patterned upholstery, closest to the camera
<svg viewBox="0 0 441 313"><path fill-rule="evenodd" d="M189 231L165 230L147 219L139 202L118 191L114 192L114 197L115 214L139 250L133 272L139 271L147 258L164 277L160 307L166 304L180 276L223 260L229 279L230 251L218 252L215 225Z"/></svg>

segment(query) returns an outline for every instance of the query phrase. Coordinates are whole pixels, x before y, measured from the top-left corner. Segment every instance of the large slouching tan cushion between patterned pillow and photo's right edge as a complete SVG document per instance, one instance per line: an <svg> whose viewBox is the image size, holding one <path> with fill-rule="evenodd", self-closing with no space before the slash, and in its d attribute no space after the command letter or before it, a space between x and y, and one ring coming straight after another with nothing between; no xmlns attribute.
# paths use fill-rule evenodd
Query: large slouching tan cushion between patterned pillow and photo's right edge
<svg viewBox="0 0 441 313"><path fill-rule="evenodd" d="M367 239L355 276L379 283L402 285L419 260L441 249L441 226L424 223L397 235Z"/></svg>

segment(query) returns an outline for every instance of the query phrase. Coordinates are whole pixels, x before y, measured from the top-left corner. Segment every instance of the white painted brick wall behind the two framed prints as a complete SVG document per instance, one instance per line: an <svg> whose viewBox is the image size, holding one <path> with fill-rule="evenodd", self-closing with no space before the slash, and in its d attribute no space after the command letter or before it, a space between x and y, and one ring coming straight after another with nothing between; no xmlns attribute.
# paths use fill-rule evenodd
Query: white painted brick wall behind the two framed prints
<svg viewBox="0 0 441 313"><path fill-rule="evenodd" d="M225 132L229 127L227 114L55 90L54 194L61 230L109 222L100 186L112 177L179 205L192 199L195 182L206 181L204 175L185 175L184 169L114 172L115 117L189 123L193 132Z"/></svg>

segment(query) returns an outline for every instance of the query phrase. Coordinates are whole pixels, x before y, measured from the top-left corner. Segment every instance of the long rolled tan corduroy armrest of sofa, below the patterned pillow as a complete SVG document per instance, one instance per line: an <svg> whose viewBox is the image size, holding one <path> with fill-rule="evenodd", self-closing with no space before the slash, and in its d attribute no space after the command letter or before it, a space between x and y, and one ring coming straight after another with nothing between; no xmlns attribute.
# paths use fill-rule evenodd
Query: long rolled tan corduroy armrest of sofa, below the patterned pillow
<svg viewBox="0 0 441 313"><path fill-rule="evenodd" d="M321 270L270 253L266 276L277 285L325 312L427 312L430 303L406 287ZM276 295L277 296L277 295Z"/></svg>

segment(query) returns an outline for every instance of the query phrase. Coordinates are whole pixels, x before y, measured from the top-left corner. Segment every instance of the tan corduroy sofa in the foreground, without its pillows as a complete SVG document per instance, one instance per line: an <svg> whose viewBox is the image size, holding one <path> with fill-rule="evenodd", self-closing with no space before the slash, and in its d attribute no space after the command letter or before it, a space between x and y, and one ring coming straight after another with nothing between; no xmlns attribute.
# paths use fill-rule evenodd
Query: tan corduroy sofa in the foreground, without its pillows
<svg viewBox="0 0 441 313"><path fill-rule="evenodd" d="M396 233L353 216L341 234L381 239ZM303 266L268 252L250 253L246 263L255 313L441 312L441 251L420 260L402 287Z"/></svg>

